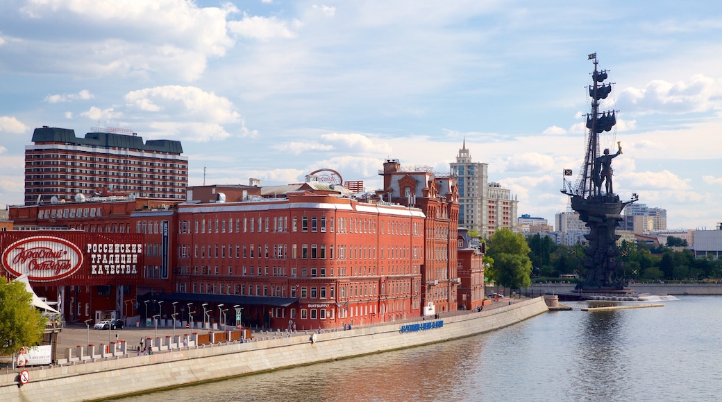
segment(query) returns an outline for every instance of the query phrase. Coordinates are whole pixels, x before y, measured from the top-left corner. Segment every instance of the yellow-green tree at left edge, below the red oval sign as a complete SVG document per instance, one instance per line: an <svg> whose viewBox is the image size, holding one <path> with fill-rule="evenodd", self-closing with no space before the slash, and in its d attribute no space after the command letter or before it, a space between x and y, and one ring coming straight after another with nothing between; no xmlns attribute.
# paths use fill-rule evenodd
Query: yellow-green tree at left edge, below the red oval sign
<svg viewBox="0 0 722 402"><path fill-rule="evenodd" d="M25 284L0 277L0 355L40 344L46 323Z"/></svg>

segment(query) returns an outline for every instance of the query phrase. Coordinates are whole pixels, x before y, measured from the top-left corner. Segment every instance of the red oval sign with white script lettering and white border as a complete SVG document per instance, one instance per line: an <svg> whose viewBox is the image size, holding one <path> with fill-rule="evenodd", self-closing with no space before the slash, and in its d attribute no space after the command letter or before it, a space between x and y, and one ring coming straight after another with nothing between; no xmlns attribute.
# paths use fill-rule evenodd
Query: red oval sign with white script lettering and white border
<svg viewBox="0 0 722 402"><path fill-rule="evenodd" d="M64 238L34 236L16 241L5 249L2 264L15 276L27 274L35 282L69 277L83 263L82 251Z"/></svg>

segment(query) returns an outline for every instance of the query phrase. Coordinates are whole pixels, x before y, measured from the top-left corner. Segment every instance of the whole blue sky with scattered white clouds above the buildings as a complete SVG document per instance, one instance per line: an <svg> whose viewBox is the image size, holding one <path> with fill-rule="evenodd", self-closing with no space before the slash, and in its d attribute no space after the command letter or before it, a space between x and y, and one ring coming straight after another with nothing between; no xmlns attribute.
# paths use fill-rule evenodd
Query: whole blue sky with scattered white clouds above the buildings
<svg viewBox="0 0 722 402"><path fill-rule="evenodd" d="M569 210L596 53L614 192L669 229L722 222L718 0L0 0L0 205L48 125L183 143L188 184L448 173L466 140L518 214Z"/></svg>

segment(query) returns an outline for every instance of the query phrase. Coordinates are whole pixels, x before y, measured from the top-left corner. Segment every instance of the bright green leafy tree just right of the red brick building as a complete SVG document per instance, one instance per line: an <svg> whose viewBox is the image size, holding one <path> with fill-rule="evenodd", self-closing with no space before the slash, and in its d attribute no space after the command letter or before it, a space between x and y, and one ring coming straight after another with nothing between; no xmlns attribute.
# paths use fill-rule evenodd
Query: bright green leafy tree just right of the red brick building
<svg viewBox="0 0 722 402"><path fill-rule="evenodd" d="M504 287L529 287L531 285L531 260L529 245L521 233L507 228L495 231L489 238L487 255L493 260L489 277Z"/></svg>

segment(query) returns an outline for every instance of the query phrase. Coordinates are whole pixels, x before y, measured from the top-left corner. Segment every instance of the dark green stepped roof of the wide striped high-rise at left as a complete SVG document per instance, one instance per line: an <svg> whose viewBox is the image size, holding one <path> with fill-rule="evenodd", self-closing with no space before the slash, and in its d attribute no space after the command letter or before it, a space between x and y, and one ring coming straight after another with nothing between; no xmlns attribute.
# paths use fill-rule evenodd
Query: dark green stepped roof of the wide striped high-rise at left
<svg viewBox="0 0 722 402"><path fill-rule="evenodd" d="M75 130L71 130L69 128L36 128L32 133L32 142L60 142L84 146L103 146L138 149L142 151L183 153L181 141L147 140L143 143L143 138L136 134L125 135L118 133L87 133L85 138L77 138L75 136Z"/></svg>

